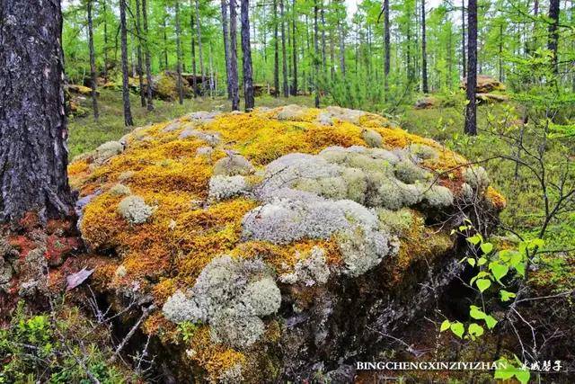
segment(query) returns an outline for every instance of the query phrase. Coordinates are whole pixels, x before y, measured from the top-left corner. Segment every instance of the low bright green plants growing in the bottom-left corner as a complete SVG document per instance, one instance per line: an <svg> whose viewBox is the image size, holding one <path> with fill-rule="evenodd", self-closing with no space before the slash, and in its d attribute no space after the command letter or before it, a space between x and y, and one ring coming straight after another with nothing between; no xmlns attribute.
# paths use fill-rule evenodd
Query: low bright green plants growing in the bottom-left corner
<svg viewBox="0 0 575 384"><path fill-rule="evenodd" d="M106 362L110 351L87 336L79 344L86 321L77 309L66 309L62 315L28 314L19 303L11 324L0 329L0 383L88 384L92 381L78 364L78 357L85 355L88 370L102 384L126 382L125 373Z"/></svg>

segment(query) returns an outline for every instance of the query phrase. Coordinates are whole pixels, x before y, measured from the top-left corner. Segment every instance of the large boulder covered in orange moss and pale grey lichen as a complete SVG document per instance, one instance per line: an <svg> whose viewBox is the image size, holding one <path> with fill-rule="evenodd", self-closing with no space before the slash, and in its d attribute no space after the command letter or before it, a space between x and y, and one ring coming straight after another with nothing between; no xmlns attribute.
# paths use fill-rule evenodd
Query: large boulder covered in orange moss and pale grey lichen
<svg viewBox="0 0 575 384"><path fill-rule="evenodd" d="M464 163L376 114L289 105L135 129L69 174L98 289L155 301L144 331L180 353L176 374L261 382L337 364L382 325L372 308L400 306L385 324L424 308L454 213L505 204Z"/></svg>

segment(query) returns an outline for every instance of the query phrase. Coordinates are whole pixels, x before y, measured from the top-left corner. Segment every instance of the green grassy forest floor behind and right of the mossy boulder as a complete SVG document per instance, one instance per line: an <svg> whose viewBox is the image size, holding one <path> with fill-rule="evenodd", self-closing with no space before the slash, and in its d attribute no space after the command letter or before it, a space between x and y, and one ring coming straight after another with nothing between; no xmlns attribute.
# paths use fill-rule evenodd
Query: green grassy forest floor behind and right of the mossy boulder
<svg viewBox="0 0 575 384"><path fill-rule="evenodd" d="M147 112L146 108L140 106L137 94L131 94L130 97L136 127L173 120L189 112L231 110L231 104L225 97L205 97L186 99L182 105L177 102L155 100L154 112ZM82 100L81 104L84 108L92 110L89 98ZM310 96L274 98L269 95L256 98L256 106L277 107L287 104L313 106L314 99ZM403 106L402 112L390 118L398 122L403 129L423 137L434 138L470 161L480 161L494 154L513 153L514 148L509 147L503 139L489 133L490 124L502 119L512 105L509 103L481 105L478 108L477 119L480 133L477 137L470 138L463 133L463 104L450 104L451 106L447 107L438 106L423 110L414 109L409 105ZM330 105L329 100L323 100L322 105ZM94 121L92 114L70 119L71 158L93 150L106 141L117 140L128 133L129 129L124 127L120 92L101 90L99 107L99 121ZM547 156L550 164L553 164L553 159L564 156L564 153L558 146L550 143ZM543 217L541 191L535 178L525 169L520 170L516 178L515 164L509 161L493 160L482 165L490 174L491 183L508 200L507 209L501 213L502 228L513 228L522 236L534 237L536 228L540 227ZM504 234L503 230L500 234ZM548 248L575 248L575 213L568 213L561 219L553 221L546 240ZM569 257L565 257L561 253L559 255L553 253L549 263L543 265L543 268L550 268L551 280L558 282L552 290L575 287L575 265L569 262L575 259L575 253L569 254ZM549 274L545 275L549 276Z"/></svg>

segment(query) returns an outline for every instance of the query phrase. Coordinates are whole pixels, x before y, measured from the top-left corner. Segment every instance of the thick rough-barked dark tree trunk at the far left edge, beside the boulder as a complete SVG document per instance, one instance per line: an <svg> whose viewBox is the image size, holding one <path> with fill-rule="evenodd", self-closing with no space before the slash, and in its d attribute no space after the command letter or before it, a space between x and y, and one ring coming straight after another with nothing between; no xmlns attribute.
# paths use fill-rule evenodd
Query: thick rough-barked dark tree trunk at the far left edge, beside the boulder
<svg viewBox="0 0 575 384"><path fill-rule="evenodd" d="M60 2L0 0L0 20L0 221L72 215Z"/></svg>

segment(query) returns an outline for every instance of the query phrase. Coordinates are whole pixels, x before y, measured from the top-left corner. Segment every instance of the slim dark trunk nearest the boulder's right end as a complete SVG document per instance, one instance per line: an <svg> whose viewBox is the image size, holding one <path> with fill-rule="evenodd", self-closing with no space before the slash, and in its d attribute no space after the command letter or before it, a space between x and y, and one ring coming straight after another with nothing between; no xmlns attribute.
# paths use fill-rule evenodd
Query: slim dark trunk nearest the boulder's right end
<svg viewBox="0 0 575 384"><path fill-rule="evenodd" d="M477 0L469 0L467 5L467 105L465 107L465 128L468 135L477 135Z"/></svg>

